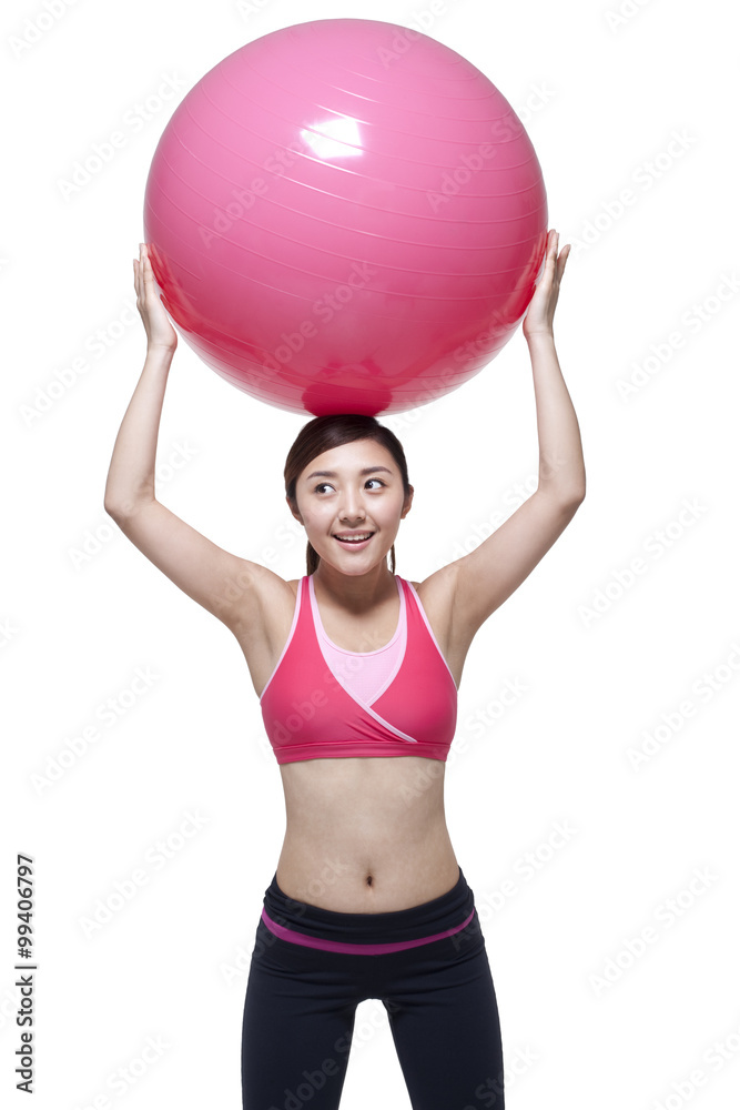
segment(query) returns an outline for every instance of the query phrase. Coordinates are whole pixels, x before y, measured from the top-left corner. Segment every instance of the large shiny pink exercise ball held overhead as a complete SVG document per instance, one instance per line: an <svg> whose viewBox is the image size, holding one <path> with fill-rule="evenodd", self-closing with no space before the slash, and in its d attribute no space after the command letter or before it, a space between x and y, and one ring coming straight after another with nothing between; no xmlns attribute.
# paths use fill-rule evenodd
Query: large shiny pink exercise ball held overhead
<svg viewBox="0 0 740 1110"><path fill-rule="evenodd" d="M418 31L323 19L210 70L154 152L144 238L216 373L294 413L397 413L513 335L547 239L537 155L472 62Z"/></svg>

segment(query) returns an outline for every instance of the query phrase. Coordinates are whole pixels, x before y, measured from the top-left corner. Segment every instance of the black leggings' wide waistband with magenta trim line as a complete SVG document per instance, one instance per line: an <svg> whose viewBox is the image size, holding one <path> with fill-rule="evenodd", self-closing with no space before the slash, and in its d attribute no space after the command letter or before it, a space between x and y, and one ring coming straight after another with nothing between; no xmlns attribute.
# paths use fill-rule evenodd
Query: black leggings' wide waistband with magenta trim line
<svg viewBox="0 0 740 1110"><path fill-rule="evenodd" d="M265 890L262 921L280 940L326 951L379 956L460 932L473 921L474 894L463 869L452 888L417 906L379 914L345 914L290 898L277 874Z"/></svg>

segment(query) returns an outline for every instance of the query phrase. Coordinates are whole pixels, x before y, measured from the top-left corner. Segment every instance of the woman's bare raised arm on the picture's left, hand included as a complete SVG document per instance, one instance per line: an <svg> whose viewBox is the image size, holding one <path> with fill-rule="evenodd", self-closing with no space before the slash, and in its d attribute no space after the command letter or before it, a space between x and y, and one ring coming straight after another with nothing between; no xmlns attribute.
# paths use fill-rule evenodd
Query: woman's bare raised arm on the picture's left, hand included
<svg viewBox="0 0 740 1110"><path fill-rule="evenodd" d="M156 440L178 336L156 292L145 244L133 265L146 359L113 447L105 512L150 562L232 632L260 635L261 587L270 579L277 583L277 576L219 547L156 500Z"/></svg>

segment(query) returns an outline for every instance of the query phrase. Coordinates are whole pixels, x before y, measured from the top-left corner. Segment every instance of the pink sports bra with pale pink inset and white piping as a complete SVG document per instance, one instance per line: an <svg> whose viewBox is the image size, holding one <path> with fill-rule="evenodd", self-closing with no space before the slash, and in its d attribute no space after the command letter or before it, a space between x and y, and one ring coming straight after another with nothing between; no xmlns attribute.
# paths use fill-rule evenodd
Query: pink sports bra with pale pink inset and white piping
<svg viewBox="0 0 740 1110"><path fill-rule="evenodd" d="M401 609L391 642L347 652L328 639L313 576L298 583L293 624L260 697L278 764L353 756L447 759L457 688L422 602L396 575Z"/></svg>

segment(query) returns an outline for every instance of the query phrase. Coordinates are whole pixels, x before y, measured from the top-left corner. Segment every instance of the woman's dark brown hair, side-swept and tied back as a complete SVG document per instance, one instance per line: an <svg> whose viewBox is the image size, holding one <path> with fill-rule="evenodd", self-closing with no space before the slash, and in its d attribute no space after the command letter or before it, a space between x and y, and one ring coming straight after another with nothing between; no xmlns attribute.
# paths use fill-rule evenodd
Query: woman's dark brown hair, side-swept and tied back
<svg viewBox="0 0 740 1110"><path fill-rule="evenodd" d="M330 416L316 416L304 424L297 437L287 453L285 461L285 493L293 506L297 511L298 503L295 496L295 485L298 475L305 470L312 458L322 455L332 447L341 447L343 443L354 443L355 440L375 440L382 444L393 455L394 462L401 471L404 483L404 496L410 492L408 484L408 468L406 456L401 441L394 435L389 427L378 424L374 416L363 416L358 413L336 413ZM313 574L318 566L320 556L311 546L306 544L306 573ZM391 547L391 573L396 573L395 544Z"/></svg>

